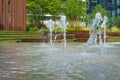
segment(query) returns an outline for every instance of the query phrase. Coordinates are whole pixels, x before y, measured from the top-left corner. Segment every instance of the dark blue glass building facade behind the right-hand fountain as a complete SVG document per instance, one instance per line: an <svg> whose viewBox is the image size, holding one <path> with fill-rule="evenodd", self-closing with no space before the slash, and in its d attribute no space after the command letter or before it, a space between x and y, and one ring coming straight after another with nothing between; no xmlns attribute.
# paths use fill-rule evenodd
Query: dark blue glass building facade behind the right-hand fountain
<svg viewBox="0 0 120 80"><path fill-rule="evenodd" d="M104 9L108 11L108 16L120 15L120 0L88 0L87 13L91 13L91 10L100 4Z"/></svg>

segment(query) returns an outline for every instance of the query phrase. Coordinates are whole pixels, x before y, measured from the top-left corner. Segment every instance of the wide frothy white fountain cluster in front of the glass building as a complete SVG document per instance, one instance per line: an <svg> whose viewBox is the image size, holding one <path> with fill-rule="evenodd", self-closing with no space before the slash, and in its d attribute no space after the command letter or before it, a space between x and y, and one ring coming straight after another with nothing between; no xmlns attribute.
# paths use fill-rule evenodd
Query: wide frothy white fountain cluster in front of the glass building
<svg viewBox="0 0 120 80"><path fill-rule="evenodd" d="M103 21L103 22L102 22ZM101 24L102 22L102 24ZM101 13L96 13L95 19L92 20L92 24L90 25L90 37L87 41L87 44L93 45L99 41L99 44L102 45L102 33L104 33L104 45L106 41L106 22L107 22L107 17L104 16L104 19L102 18ZM103 32L101 32L101 29L104 29Z"/></svg>

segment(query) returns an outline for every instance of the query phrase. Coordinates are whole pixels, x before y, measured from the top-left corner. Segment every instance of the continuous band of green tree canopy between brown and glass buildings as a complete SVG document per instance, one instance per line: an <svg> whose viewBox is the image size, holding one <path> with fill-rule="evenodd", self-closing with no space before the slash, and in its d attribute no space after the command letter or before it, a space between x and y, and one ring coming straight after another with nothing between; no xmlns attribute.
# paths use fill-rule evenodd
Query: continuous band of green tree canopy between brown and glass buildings
<svg viewBox="0 0 120 80"><path fill-rule="evenodd" d="M82 0L27 0L27 21L40 28L45 14L56 16L63 13L67 20L80 21L86 16L86 2Z"/></svg>

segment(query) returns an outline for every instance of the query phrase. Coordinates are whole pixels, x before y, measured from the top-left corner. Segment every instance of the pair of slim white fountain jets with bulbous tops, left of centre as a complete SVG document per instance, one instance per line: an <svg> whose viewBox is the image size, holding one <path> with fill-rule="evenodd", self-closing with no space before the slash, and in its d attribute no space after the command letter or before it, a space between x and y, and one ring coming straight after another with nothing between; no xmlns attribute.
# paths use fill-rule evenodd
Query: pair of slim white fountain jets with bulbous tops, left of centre
<svg viewBox="0 0 120 80"><path fill-rule="evenodd" d="M52 15L47 15L49 17L51 17ZM53 28L54 28L54 21L52 21L52 19L50 18L50 20L47 21L46 23L46 26L47 28L49 29L49 32L50 32L50 46L53 47L54 44L55 44L55 41L57 39L57 36L60 36L62 35L62 33L59 33L59 34L52 34L52 31L53 31ZM60 21L59 21L59 24L58 24L58 27L60 28L63 28L64 31L63 31L63 41L64 41L64 49L66 49L66 26L67 26L67 22L66 22L66 16L64 15L61 15L60 16ZM54 39L53 39L53 36L54 36ZM53 41L52 41L53 40Z"/></svg>

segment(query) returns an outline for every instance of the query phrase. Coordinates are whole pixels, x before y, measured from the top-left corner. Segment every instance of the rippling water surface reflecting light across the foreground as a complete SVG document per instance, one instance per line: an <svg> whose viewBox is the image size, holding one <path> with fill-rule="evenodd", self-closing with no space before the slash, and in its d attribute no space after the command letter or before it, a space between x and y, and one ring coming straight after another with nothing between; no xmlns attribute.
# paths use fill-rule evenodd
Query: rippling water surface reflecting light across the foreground
<svg viewBox="0 0 120 80"><path fill-rule="evenodd" d="M120 45L0 44L0 80L120 80Z"/></svg>

